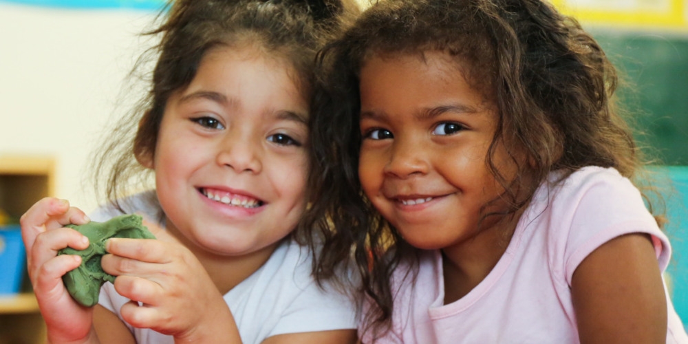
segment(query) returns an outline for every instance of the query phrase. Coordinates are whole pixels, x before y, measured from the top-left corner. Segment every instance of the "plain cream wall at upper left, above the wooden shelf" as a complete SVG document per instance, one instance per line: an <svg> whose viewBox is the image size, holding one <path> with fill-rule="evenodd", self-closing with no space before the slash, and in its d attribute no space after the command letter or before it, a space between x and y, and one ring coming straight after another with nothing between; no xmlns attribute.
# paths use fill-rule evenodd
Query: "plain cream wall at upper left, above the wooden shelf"
<svg viewBox="0 0 688 344"><path fill-rule="evenodd" d="M152 19L0 3L0 155L54 157L56 196L95 208L87 162L111 115L133 103L122 90Z"/></svg>

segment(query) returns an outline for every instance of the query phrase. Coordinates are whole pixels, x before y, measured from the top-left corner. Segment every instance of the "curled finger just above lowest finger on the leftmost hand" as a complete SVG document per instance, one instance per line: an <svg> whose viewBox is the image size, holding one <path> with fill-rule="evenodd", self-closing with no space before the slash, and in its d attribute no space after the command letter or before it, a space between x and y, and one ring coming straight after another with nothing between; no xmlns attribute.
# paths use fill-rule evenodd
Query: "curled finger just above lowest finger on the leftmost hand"
<svg viewBox="0 0 688 344"><path fill-rule="evenodd" d="M66 247L84 250L89 246L89 239L72 228L57 228L36 235L33 246L27 248L27 265L33 270L34 264L43 264L52 259L59 250Z"/></svg>

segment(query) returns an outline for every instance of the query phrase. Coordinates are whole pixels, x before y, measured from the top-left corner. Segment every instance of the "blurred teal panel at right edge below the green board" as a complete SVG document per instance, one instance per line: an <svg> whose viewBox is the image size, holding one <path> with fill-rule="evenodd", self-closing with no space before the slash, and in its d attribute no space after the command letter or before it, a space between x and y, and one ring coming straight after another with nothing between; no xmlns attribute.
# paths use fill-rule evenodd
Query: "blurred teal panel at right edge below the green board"
<svg viewBox="0 0 688 344"><path fill-rule="evenodd" d="M674 308L688 328L688 166L663 166L657 172L671 182L669 188L660 189L667 203L665 230L673 249L667 273Z"/></svg>

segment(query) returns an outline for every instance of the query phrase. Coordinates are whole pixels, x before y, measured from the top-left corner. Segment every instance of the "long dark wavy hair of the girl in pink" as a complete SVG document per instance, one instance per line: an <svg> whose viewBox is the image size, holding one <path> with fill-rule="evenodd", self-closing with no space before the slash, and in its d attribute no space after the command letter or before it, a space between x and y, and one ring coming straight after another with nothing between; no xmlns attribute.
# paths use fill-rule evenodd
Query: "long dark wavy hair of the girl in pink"
<svg viewBox="0 0 688 344"><path fill-rule="evenodd" d="M360 273L363 292L376 304L366 323L388 325L391 274L418 250L361 191L359 73L371 56L429 51L452 56L497 112L485 163L504 186L500 198L508 208L490 213L484 206L482 219L516 216L551 171L561 171L563 180L594 165L634 178L641 166L632 133L612 102L616 70L574 18L541 0L376 3L319 54L323 87L314 96L310 123L312 207L304 220L323 235L317 277L336 277L338 269L352 265ZM515 180L493 162L499 144L515 147L508 152L517 165ZM517 151L525 153L525 161Z"/></svg>

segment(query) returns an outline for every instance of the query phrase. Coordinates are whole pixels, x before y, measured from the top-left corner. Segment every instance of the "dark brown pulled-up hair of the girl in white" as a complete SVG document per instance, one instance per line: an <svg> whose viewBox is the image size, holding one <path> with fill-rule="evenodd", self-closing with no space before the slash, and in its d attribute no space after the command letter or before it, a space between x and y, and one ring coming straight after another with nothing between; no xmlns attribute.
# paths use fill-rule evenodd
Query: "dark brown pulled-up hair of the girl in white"
<svg viewBox="0 0 688 344"><path fill-rule="evenodd" d="M100 147L92 166L96 191L104 191L108 202L124 212L122 197L151 187L151 171L137 160L153 159L167 100L191 83L202 57L213 47L259 45L293 67L292 77L309 98L316 53L359 13L353 0L167 2L155 21L159 26L144 33L159 43L142 54L131 73L140 74L156 60L147 94Z"/></svg>

